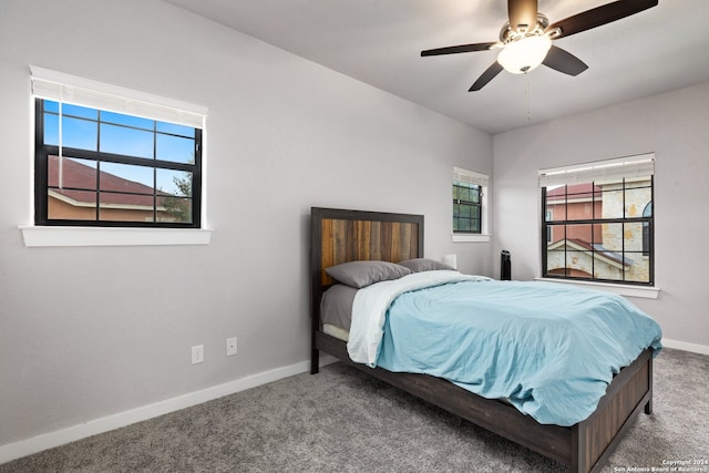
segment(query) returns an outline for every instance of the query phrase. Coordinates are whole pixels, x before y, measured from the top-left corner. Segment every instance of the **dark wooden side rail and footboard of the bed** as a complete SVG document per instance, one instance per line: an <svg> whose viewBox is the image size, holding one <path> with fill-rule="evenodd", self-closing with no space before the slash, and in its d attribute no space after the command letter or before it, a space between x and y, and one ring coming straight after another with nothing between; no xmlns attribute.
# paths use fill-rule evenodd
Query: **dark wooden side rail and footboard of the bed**
<svg viewBox="0 0 709 473"><path fill-rule="evenodd" d="M484 399L427 374L394 373L349 359L346 343L315 332L316 349L483 429L566 464L574 473L598 472L641 410L651 412L653 357L644 351L608 385L594 413L571 428L545 425L507 403ZM312 367L317 366L314 359Z"/></svg>

